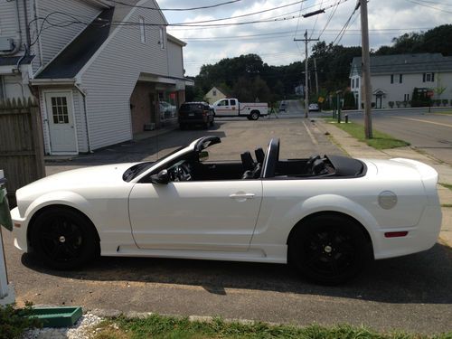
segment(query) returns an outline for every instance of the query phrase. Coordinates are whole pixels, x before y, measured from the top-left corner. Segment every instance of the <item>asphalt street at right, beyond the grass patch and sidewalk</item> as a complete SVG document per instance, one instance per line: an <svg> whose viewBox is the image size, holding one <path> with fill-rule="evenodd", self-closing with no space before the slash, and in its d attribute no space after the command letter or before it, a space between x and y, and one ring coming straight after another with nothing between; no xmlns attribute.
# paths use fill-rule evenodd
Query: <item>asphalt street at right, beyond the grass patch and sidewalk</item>
<svg viewBox="0 0 452 339"><path fill-rule="evenodd" d="M411 146L452 165L452 114L441 115L419 110L373 110L373 127L410 142ZM363 114L350 114L363 123Z"/></svg>

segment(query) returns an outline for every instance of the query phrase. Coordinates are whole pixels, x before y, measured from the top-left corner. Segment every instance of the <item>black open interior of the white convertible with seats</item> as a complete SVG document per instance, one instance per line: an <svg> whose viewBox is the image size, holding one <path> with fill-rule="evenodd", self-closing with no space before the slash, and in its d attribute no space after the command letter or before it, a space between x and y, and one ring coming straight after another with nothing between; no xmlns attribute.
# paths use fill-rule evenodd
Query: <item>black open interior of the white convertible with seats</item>
<svg viewBox="0 0 452 339"><path fill-rule="evenodd" d="M223 181L252 179L305 179L357 177L365 174L365 165L359 160L340 155L311 155L303 159L279 159L279 139L273 138L267 151L259 147L240 155L240 162L209 162L205 148L220 141L195 147L192 154L178 158L166 166L169 180ZM161 170L161 169L159 169Z"/></svg>

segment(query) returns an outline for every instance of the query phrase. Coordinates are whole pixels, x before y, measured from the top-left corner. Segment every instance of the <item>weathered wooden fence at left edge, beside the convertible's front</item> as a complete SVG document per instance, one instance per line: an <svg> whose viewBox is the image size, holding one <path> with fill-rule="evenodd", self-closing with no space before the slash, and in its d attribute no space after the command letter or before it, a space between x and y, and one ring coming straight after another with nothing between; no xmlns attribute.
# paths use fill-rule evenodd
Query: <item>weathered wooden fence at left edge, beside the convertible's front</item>
<svg viewBox="0 0 452 339"><path fill-rule="evenodd" d="M42 122L34 99L0 100L0 169L10 207L15 191L45 176Z"/></svg>

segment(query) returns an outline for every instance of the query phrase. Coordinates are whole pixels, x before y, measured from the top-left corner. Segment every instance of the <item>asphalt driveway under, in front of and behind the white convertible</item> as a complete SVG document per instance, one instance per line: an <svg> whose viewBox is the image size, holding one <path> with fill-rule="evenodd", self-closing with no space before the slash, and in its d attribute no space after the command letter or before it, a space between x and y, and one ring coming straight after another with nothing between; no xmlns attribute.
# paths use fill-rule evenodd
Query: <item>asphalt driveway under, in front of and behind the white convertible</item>
<svg viewBox="0 0 452 339"><path fill-rule="evenodd" d="M194 137L226 137L219 157L237 158L244 150L281 137L281 157L340 154L325 135L302 118L219 120L217 127L168 133L109 147L54 172L80 165L152 159ZM45 305L84 306L172 315L221 315L226 318L308 325L349 323L376 329L438 333L452 329L452 250L440 244L399 259L373 263L341 287L307 283L286 265L184 259L101 258L74 271L43 268L14 249L4 231L9 279L17 300Z"/></svg>

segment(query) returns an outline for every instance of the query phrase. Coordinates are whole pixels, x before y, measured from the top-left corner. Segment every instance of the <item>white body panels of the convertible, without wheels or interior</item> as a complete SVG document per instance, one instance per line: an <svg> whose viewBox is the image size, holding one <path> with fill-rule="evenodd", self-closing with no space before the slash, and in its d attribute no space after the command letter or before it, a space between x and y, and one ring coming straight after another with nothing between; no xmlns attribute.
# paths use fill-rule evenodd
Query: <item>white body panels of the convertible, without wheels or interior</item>
<svg viewBox="0 0 452 339"><path fill-rule="evenodd" d="M33 215L55 204L75 208L93 222L104 256L284 263L290 231L316 212L340 212L359 221L372 240L375 259L428 250L438 239L438 174L414 160L363 160L367 172L356 178L139 183L193 152L195 145L128 183L122 175L135 164L63 172L21 188L12 211L15 246L28 250ZM394 208L379 205L383 191L397 195ZM409 234L386 238L388 231Z"/></svg>

